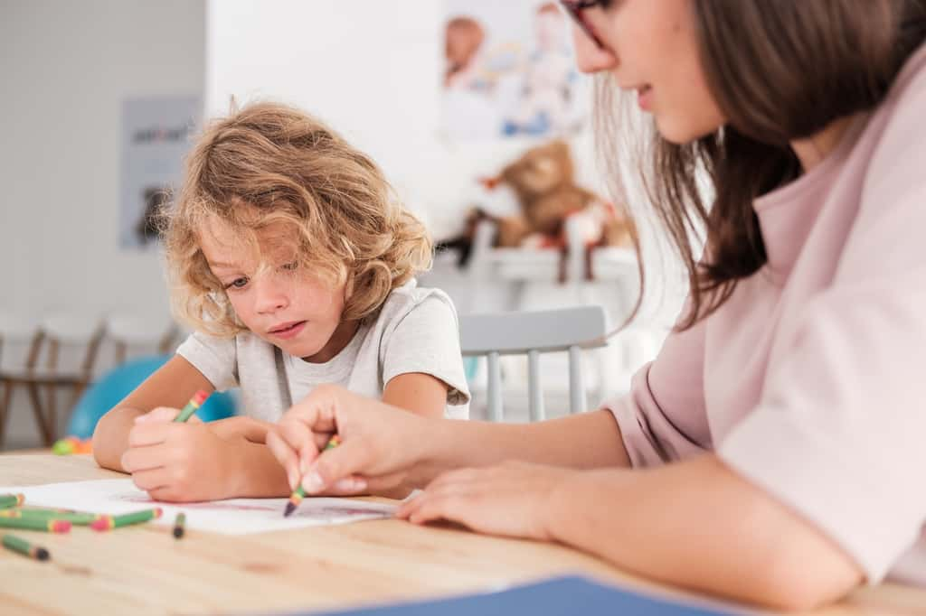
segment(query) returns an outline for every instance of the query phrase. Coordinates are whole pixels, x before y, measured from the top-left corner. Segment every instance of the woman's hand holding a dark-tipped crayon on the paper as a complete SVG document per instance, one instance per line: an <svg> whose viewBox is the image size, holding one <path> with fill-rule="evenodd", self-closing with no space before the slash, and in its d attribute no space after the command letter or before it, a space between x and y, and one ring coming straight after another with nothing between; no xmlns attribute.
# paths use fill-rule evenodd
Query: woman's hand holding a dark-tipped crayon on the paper
<svg viewBox="0 0 926 616"><path fill-rule="evenodd" d="M336 386L315 388L267 436L291 487L307 494L377 493L400 487L418 462L427 420ZM342 444L319 450L337 433Z"/></svg>

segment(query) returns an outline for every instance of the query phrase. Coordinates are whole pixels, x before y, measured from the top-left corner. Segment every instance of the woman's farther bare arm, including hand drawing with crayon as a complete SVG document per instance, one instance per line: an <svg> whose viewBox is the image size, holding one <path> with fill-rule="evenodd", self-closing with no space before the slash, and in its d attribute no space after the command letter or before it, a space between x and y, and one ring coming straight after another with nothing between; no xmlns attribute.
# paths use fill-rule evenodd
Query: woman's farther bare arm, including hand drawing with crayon
<svg viewBox="0 0 926 616"><path fill-rule="evenodd" d="M337 433L342 445L319 456ZM407 413L337 386L315 388L283 416L267 444L309 493L362 479L356 492L423 487L446 469L507 460L571 468L627 465L620 431L607 411L537 424L490 424ZM304 476L305 475L305 476Z"/></svg>

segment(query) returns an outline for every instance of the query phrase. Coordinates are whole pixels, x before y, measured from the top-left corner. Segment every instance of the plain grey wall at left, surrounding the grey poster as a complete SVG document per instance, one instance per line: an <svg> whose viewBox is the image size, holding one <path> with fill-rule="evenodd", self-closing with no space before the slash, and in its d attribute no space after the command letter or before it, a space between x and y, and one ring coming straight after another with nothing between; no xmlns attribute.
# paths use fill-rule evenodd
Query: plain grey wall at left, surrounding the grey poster
<svg viewBox="0 0 926 616"><path fill-rule="evenodd" d="M119 251L120 105L202 96L204 36L201 0L2 1L0 308L167 310L157 254Z"/></svg>

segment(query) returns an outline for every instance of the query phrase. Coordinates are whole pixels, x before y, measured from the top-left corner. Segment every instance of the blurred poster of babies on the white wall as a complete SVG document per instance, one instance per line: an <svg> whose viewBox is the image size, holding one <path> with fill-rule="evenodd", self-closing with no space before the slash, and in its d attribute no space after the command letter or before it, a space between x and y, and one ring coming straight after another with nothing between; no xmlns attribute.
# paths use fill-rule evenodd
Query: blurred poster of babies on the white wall
<svg viewBox="0 0 926 616"><path fill-rule="evenodd" d="M587 122L569 18L544 0L444 0L442 131L452 140L568 137Z"/></svg>

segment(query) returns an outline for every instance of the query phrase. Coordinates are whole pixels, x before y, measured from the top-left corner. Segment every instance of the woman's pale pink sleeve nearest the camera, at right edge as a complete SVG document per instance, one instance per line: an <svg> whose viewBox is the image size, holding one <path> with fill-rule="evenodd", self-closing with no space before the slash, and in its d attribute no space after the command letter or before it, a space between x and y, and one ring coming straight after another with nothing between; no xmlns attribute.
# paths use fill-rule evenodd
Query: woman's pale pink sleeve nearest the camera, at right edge
<svg viewBox="0 0 926 616"><path fill-rule="evenodd" d="M844 548L870 584L926 520L924 107L926 87L908 122L883 133L832 286L808 303L756 411L719 446L733 470Z"/></svg>

